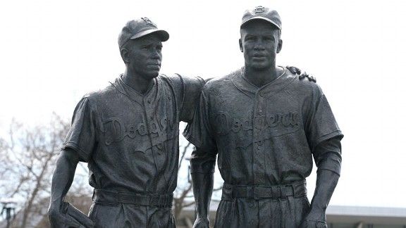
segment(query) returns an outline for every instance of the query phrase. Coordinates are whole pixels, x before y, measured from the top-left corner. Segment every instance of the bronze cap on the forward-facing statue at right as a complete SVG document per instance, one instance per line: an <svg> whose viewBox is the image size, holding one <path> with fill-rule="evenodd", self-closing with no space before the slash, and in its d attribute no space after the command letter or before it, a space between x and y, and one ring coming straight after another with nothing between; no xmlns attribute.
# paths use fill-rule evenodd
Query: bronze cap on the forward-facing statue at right
<svg viewBox="0 0 406 228"><path fill-rule="evenodd" d="M244 15L242 15L242 23L240 27L254 19L266 20L272 25L278 27L279 30L282 30L281 17L279 16L278 12L264 6L257 6L252 10L245 11Z"/></svg>

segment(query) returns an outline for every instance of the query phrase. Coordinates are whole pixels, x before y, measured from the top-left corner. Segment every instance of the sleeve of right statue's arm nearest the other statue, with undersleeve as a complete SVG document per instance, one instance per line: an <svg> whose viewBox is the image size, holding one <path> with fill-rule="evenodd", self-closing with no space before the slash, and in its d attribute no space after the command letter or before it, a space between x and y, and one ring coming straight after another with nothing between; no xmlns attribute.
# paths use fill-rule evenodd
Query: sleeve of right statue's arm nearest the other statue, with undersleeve
<svg viewBox="0 0 406 228"><path fill-rule="evenodd" d="M204 92L200 96L195 116L183 135L195 145L190 158L190 172L214 172L217 149L209 122L209 104Z"/></svg>

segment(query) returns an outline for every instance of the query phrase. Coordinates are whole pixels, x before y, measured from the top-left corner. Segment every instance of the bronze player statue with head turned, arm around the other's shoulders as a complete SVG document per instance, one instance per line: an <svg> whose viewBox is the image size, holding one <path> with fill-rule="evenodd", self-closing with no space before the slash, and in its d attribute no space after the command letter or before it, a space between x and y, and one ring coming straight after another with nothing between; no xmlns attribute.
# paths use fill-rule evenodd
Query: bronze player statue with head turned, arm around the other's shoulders
<svg viewBox="0 0 406 228"><path fill-rule="evenodd" d="M123 27L125 72L75 108L52 179L51 227L175 227L179 122L192 119L204 80L159 75L168 38L148 18ZM63 202L79 161L94 187L89 217Z"/></svg>

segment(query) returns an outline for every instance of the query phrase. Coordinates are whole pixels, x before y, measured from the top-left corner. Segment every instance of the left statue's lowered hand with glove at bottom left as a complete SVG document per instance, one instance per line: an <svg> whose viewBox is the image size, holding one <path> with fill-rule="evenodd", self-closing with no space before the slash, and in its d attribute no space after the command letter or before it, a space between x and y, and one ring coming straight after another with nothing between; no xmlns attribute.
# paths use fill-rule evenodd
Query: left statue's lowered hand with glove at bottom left
<svg viewBox="0 0 406 228"><path fill-rule="evenodd" d="M53 205L48 208L48 218L51 228L70 228L70 227L83 227L78 221L73 217L62 213L60 207L55 207Z"/></svg>

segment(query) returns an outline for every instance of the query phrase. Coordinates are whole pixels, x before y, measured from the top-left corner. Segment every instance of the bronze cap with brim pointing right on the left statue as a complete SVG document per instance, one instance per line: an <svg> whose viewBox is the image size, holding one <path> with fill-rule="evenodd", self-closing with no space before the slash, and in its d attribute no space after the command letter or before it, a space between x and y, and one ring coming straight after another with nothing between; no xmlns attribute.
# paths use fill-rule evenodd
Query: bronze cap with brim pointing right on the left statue
<svg viewBox="0 0 406 228"><path fill-rule="evenodd" d="M148 18L140 18L137 20L130 20L125 24L120 34L118 35L118 46L121 48L130 39L137 39L147 34L155 32L162 42L169 39L169 34L165 30L159 30L156 24Z"/></svg>

